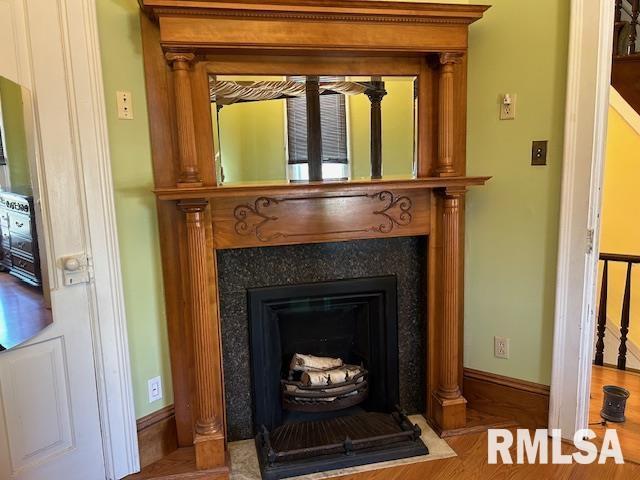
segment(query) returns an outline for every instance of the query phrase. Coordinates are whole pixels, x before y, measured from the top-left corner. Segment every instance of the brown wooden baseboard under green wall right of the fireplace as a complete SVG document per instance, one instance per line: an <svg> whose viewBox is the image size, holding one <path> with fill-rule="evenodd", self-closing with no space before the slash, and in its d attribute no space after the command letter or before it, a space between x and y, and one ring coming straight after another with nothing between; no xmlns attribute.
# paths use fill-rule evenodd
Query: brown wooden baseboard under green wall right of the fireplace
<svg viewBox="0 0 640 480"><path fill-rule="evenodd" d="M469 408L515 420L526 428L546 428L549 422L549 387L464 369L464 396Z"/></svg>

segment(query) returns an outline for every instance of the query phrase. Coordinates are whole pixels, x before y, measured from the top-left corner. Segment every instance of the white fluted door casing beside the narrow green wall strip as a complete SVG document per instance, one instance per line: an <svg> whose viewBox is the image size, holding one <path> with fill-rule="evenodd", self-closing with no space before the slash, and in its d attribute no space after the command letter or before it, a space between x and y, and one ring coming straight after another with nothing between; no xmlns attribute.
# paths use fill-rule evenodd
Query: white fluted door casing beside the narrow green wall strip
<svg viewBox="0 0 640 480"><path fill-rule="evenodd" d="M94 0L65 4L74 121L82 158L93 273L94 357L108 479L140 470L124 293L120 270L109 135ZM73 48L71 46L73 45ZM70 75L71 77L71 75Z"/></svg>

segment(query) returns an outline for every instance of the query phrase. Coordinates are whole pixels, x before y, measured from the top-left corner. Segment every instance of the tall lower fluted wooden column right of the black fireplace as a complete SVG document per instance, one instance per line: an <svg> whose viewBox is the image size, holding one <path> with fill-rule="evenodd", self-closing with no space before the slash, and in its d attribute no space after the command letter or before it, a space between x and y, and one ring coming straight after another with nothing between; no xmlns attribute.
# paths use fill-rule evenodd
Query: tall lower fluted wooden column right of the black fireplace
<svg viewBox="0 0 640 480"><path fill-rule="evenodd" d="M460 392L461 200L465 189L444 194L442 222L442 320L440 322L439 383L435 392L436 420L442 430L466 424L466 400Z"/></svg>

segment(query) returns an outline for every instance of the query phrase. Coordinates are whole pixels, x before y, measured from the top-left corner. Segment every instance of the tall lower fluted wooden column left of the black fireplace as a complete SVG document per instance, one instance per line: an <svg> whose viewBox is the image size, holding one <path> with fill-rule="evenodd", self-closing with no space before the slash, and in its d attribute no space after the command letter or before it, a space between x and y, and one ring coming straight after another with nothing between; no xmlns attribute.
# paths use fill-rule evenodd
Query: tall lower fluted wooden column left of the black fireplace
<svg viewBox="0 0 640 480"><path fill-rule="evenodd" d="M207 250L205 210L207 201L189 200L178 204L185 214L189 252L193 356L195 360L196 464L199 469L225 463L220 357L220 329L212 312Z"/></svg>

